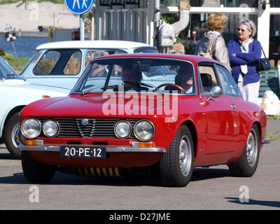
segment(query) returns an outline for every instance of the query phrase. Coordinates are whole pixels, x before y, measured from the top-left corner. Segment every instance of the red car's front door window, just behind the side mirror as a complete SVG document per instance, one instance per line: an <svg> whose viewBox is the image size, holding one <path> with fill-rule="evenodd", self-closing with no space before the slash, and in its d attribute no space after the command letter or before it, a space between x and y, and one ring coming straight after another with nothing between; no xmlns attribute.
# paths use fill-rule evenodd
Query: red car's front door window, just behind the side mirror
<svg viewBox="0 0 280 224"><path fill-rule="evenodd" d="M200 70L203 91L210 92L211 87L218 85L214 67L210 65L199 65L198 69Z"/></svg>

